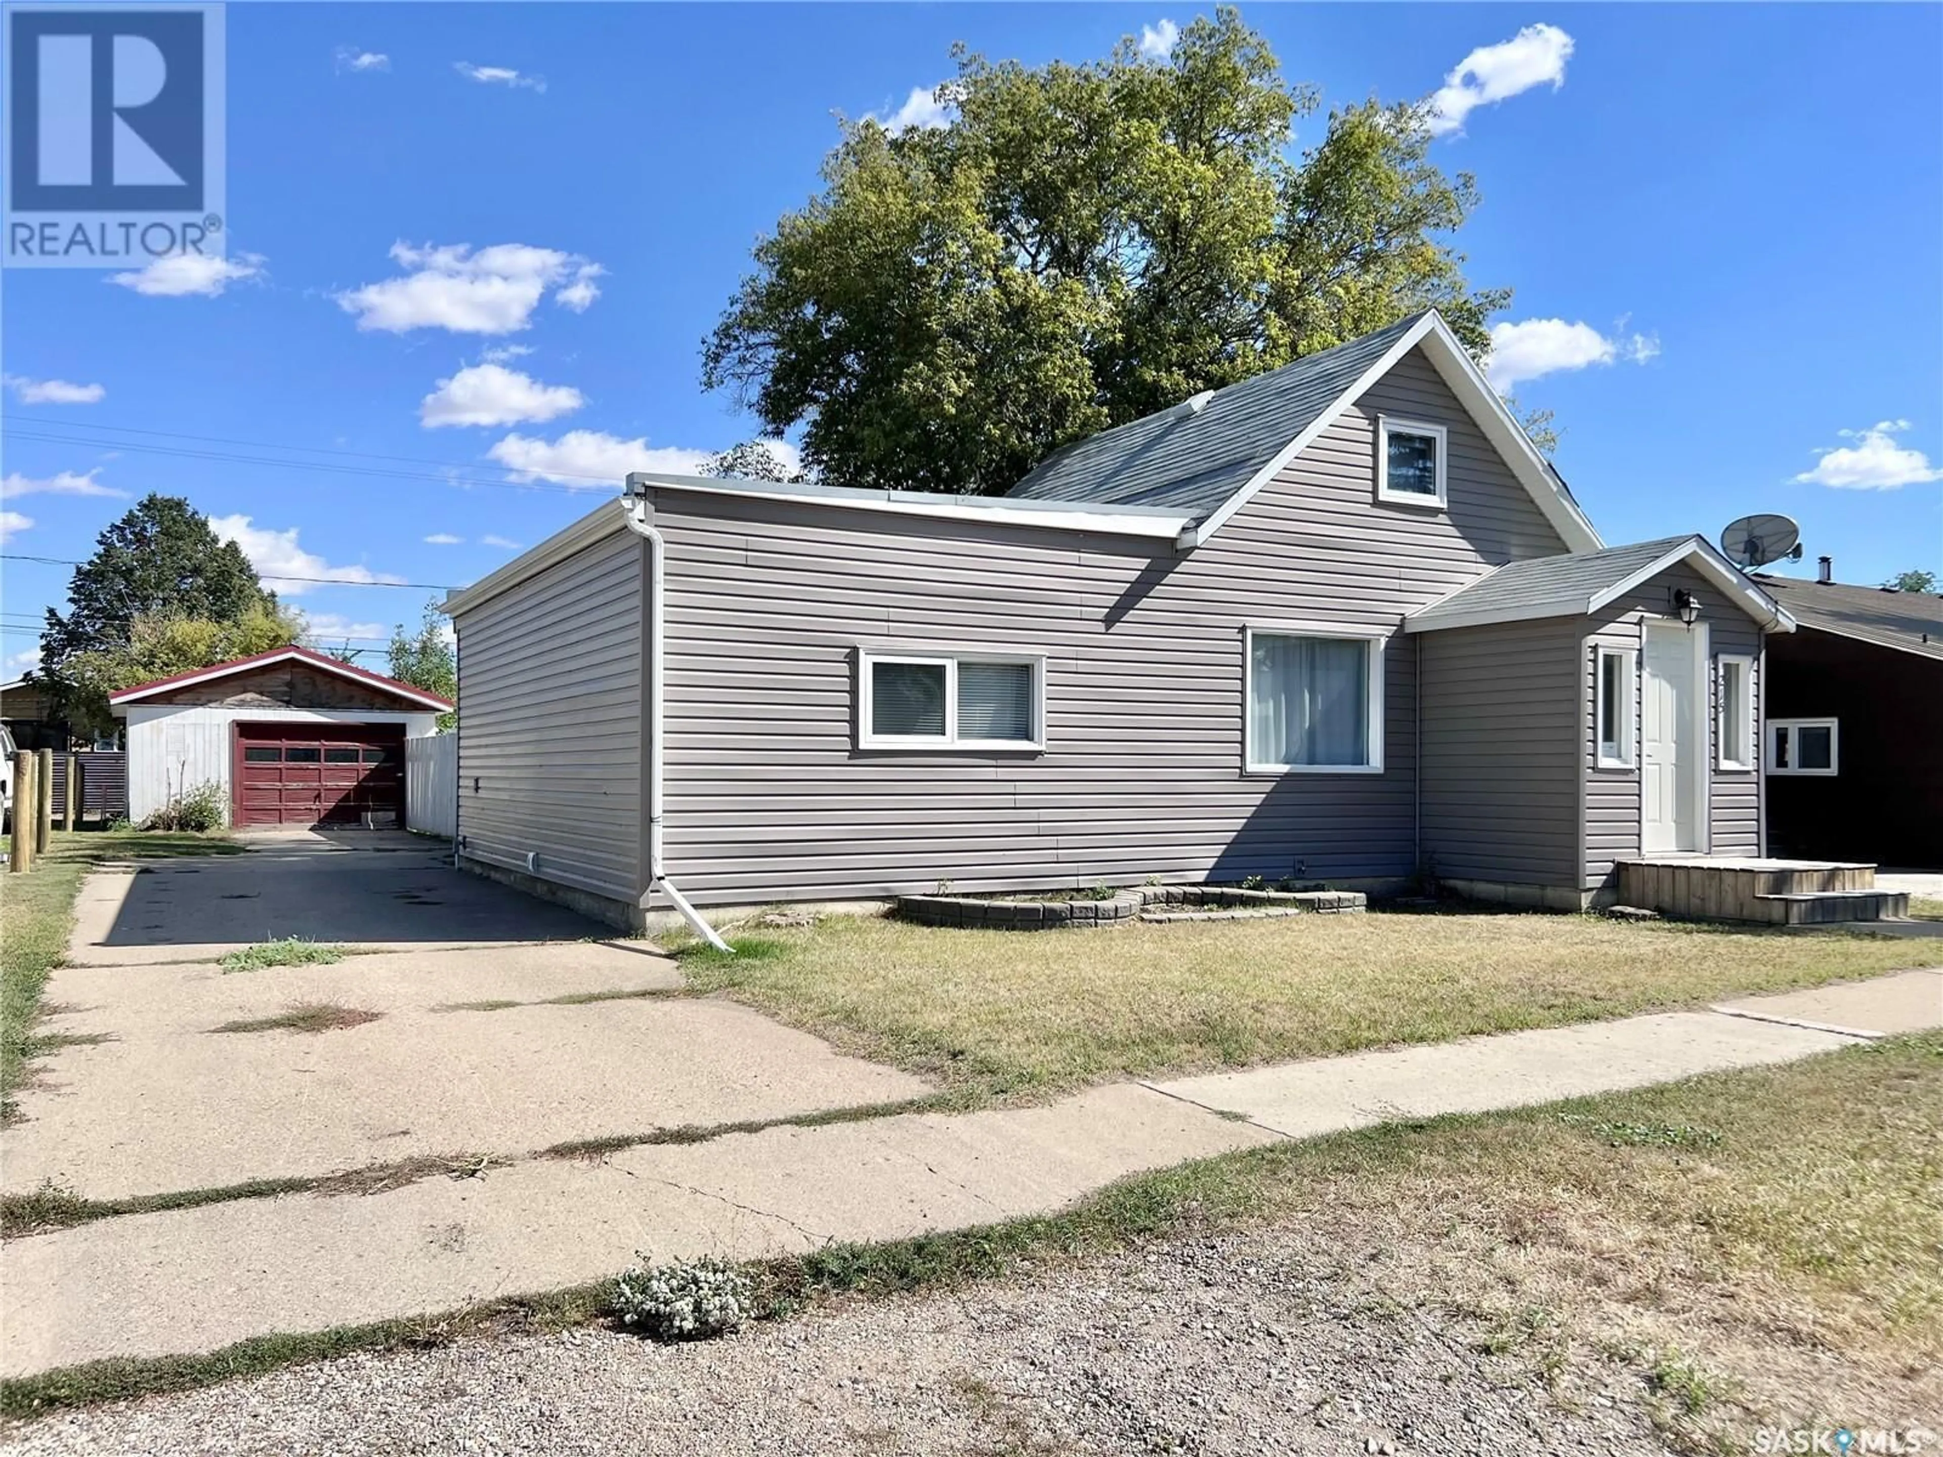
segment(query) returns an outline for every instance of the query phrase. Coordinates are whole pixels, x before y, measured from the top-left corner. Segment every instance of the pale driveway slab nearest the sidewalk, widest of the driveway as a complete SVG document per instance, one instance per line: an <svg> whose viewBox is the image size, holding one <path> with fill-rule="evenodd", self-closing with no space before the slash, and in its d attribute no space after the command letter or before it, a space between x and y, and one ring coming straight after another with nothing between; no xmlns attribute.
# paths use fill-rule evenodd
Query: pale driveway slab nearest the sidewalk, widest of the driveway
<svg viewBox="0 0 1943 1457"><path fill-rule="evenodd" d="M396 1012L326 1033L132 1035L49 1063L43 1086L21 1096L25 1121L0 1133L0 1187L52 1179L120 1199L929 1090L725 1000Z"/></svg>

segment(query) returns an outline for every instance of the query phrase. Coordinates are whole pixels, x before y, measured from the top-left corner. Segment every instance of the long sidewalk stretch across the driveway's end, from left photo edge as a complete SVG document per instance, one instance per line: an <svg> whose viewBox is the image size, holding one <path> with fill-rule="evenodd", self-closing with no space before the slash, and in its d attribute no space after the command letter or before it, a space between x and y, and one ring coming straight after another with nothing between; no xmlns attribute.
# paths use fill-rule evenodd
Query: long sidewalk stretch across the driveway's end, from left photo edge
<svg viewBox="0 0 1943 1457"><path fill-rule="evenodd" d="M534 1162L373 1197L105 1220L0 1247L0 1370L214 1350L614 1274L635 1251L760 1257L1055 1210L1142 1169L1273 1140L1137 1086Z"/></svg>

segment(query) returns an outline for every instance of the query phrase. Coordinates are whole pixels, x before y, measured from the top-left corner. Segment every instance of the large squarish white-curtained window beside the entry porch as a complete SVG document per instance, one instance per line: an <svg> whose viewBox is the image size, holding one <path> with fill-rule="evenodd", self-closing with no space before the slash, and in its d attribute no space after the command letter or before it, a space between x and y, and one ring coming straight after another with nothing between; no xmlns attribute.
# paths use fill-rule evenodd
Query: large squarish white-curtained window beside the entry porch
<svg viewBox="0 0 1943 1457"><path fill-rule="evenodd" d="M1255 633L1249 678L1255 763L1370 762L1370 643Z"/></svg>

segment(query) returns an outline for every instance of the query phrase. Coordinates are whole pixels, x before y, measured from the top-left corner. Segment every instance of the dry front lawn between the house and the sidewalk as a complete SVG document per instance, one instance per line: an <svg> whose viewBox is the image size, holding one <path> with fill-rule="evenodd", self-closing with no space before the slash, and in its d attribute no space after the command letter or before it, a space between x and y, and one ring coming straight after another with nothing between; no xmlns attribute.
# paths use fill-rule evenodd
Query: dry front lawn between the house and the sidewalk
<svg viewBox="0 0 1943 1457"><path fill-rule="evenodd" d="M1933 964L1922 940L1582 915L1313 915L1005 932L830 917L680 952L845 1051L995 1094L1446 1041Z"/></svg>

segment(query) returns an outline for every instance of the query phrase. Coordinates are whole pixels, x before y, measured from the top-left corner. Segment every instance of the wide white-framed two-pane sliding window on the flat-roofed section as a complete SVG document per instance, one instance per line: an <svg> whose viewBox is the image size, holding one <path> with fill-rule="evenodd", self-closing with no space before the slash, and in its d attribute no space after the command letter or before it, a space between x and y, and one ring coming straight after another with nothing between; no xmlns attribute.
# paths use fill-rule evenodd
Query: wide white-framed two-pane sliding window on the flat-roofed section
<svg viewBox="0 0 1943 1457"><path fill-rule="evenodd" d="M1045 748L1045 655L857 651L859 748Z"/></svg>

